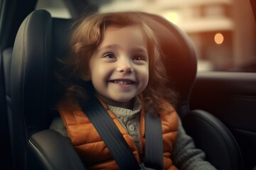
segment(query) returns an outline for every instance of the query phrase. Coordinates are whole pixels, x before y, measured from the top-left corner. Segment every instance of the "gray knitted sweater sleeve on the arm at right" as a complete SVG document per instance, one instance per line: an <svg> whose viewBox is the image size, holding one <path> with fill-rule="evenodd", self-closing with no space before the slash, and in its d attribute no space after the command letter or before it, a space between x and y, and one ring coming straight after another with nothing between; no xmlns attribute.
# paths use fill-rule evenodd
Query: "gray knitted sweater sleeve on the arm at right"
<svg viewBox="0 0 256 170"><path fill-rule="evenodd" d="M178 136L172 154L174 164L180 170L215 170L201 149L196 149L193 139L183 129L181 120L178 119Z"/></svg>

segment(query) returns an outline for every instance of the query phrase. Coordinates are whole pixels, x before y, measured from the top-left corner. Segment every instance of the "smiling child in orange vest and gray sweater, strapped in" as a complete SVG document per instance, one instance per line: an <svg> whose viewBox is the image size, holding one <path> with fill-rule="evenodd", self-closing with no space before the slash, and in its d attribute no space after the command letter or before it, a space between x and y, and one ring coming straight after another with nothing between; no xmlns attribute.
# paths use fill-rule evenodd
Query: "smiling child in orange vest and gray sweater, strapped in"
<svg viewBox="0 0 256 170"><path fill-rule="evenodd" d="M110 114L138 163L144 159L144 114L152 108L161 115L164 169L214 169L178 120L176 93L166 88L164 56L142 13L89 16L75 28L70 43L60 79L65 89L57 106L61 118L50 128L70 139L88 169L119 169L81 109L83 103L93 107L90 95Z"/></svg>

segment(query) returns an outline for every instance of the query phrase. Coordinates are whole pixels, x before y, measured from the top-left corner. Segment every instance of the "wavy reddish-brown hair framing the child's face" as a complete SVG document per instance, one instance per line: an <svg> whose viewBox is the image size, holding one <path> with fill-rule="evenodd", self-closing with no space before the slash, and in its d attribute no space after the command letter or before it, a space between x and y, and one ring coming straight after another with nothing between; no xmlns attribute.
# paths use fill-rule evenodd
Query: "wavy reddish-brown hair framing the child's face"
<svg viewBox="0 0 256 170"><path fill-rule="evenodd" d="M149 83L143 91L145 108L162 108L161 98L166 98L173 105L176 104L175 91L167 88L168 77L164 67L162 54L156 34L144 22L145 16L139 12L95 13L81 18L74 26L70 38L70 55L65 61L65 74L62 84L65 84L65 95L75 98L86 98L82 93L83 85L90 77L89 61L98 45L102 41L105 29L108 26L123 28L138 25L142 29L149 53ZM89 82L86 82L90 84ZM92 91L92 84L87 87Z"/></svg>

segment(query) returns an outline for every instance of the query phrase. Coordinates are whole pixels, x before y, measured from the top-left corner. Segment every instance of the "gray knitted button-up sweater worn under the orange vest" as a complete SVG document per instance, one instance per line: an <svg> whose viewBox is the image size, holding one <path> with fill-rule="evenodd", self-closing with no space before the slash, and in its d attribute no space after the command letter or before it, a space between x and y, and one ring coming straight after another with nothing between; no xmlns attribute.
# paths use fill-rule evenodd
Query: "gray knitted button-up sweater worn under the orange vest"
<svg viewBox="0 0 256 170"><path fill-rule="evenodd" d="M109 106L110 111L114 113L124 129L134 140L138 150L141 151L139 140L139 111L141 104L137 100L134 109L118 108ZM58 117L53 120L50 129L60 132L64 137L68 137L68 131L65 128L62 118ZM214 170L209 162L205 161L205 154L201 149L196 149L193 139L186 135L185 130L178 120L178 135L174 145L174 152L171 156L174 165L181 170Z"/></svg>

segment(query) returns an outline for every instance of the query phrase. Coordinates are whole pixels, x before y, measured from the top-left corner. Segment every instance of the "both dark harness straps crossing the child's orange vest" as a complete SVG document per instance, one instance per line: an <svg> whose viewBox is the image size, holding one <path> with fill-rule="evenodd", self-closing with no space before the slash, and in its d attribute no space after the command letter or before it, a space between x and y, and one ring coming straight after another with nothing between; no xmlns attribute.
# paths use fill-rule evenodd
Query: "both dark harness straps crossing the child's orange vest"
<svg viewBox="0 0 256 170"><path fill-rule="evenodd" d="M90 96L88 101L88 105L82 106L82 110L94 125L100 137L102 137L119 169L141 169L122 133L115 125L110 114L102 106L102 103L93 95ZM144 164L146 167L163 169L163 140L160 115L153 111L146 113L145 128L146 151Z"/></svg>

